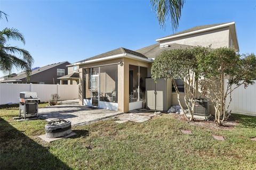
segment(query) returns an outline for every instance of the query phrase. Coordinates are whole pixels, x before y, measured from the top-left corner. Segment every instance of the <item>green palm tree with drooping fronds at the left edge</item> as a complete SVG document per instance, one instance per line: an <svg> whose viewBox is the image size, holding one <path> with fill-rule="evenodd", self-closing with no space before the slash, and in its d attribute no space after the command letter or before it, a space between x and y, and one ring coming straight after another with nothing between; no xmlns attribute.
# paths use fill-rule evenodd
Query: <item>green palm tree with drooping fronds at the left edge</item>
<svg viewBox="0 0 256 170"><path fill-rule="evenodd" d="M3 17L7 20L7 14L0 11L0 19L3 19ZM26 71L27 77L29 78L31 65L34 62L33 57L27 50L7 44L7 41L10 39L19 40L25 44L25 39L19 30L5 28L0 31L0 70L11 72L13 67L16 67L17 69ZM17 55L22 56L22 58Z"/></svg>

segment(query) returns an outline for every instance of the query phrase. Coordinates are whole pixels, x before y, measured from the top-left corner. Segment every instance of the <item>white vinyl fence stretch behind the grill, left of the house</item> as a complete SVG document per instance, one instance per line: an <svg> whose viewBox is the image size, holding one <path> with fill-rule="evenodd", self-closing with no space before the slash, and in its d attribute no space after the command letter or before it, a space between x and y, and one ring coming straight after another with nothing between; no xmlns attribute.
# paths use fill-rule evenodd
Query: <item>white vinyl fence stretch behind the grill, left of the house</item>
<svg viewBox="0 0 256 170"><path fill-rule="evenodd" d="M41 101L49 101L51 94L58 94L59 100L78 99L78 85L71 84L10 84L0 83L0 105L19 103L21 91L37 92Z"/></svg>

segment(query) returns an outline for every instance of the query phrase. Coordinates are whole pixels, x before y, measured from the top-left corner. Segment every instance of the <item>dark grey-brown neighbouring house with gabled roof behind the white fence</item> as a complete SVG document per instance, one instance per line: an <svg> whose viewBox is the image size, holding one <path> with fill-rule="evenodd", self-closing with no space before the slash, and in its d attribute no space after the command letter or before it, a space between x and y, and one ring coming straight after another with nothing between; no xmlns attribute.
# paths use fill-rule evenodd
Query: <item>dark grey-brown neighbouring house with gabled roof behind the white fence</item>
<svg viewBox="0 0 256 170"><path fill-rule="evenodd" d="M29 80L26 73L18 74L15 77L8 78L1 83L35 83L35 84L60 84L59 77L68 73L69 62L60 62L39 67L31 71ZM67 84L67 82L66 82Z"/></svg>

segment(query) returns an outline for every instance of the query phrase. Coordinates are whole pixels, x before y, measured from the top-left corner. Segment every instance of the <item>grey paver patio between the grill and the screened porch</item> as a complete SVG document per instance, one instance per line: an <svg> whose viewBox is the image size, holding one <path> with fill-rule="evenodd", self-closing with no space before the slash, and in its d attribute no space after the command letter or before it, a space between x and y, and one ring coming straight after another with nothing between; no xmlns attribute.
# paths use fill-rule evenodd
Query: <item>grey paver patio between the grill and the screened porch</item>
<svg viewBox="0 0 256 170"><path fill-rule="evenodd" d="M62 101L60 105L39 108L38 114L45 117L48 122L55 118L62 118L71 121L72 125L81 125L116 116L121 112L81 106L78 104L78 100L66 100Z"/></svg>

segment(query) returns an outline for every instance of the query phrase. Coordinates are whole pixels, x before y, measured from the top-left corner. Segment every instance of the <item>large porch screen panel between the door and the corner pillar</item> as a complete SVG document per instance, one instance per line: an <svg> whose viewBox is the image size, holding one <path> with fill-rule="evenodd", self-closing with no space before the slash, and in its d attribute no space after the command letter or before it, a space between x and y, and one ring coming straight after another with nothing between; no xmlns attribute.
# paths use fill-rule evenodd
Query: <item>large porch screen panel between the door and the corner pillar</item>
<svg viewBox="0 0 256 170"><path fill-rule="evenodd" d="M117 103L117 65L100 67L100 101Z"/></svg>

